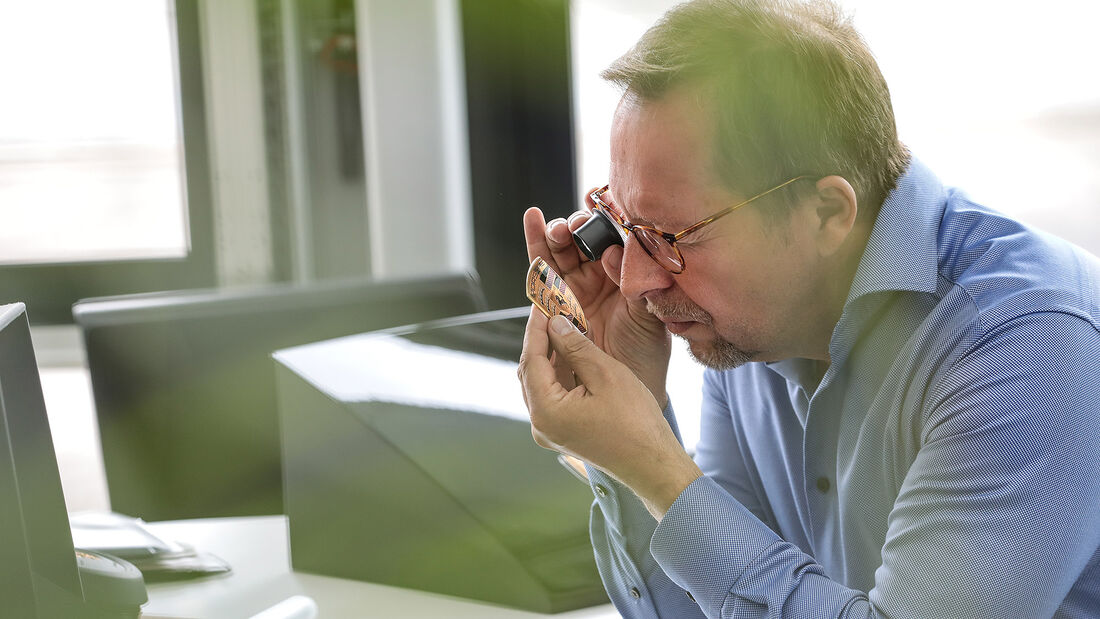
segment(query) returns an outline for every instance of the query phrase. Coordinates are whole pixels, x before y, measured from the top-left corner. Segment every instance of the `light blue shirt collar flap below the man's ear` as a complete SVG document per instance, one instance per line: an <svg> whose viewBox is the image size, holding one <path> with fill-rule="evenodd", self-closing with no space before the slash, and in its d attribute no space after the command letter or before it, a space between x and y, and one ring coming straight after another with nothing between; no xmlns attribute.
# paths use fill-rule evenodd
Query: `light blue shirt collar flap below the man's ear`
<svg viewBox="0 0 1100 619"><path fill-rule="evenodd" d="M914 158L879 210L848 303L872 292L936 290L936 242L946 201L939 179Z"/></svg>

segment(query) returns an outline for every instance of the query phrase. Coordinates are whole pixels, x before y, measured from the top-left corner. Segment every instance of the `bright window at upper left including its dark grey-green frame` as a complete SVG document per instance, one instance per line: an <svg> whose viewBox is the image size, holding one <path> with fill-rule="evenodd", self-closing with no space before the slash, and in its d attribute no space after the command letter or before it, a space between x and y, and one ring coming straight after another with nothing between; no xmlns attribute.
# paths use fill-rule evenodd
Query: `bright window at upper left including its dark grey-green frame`
<svg viewBox="0 0 1100 619"><path fill-rule="evenodd" d="M59 323L78 298L213 283L197 16L0 5L0 302Z"/></svg>

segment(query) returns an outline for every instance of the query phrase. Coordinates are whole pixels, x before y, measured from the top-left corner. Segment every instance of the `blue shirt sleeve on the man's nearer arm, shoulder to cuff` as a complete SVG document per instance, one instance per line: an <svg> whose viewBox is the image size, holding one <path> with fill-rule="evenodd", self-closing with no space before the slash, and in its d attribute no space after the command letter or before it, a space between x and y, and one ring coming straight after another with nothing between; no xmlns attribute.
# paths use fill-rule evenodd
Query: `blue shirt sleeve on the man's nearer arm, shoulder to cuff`
<svg viewBox="0 0 1100 619"><path fill-rule="evenodd" d="M1054 312L945 368L870 592L832 581L706 476L654 527L651 555L714 618L1050 617L1100 543L1098 385L1100 334Z"/></svg>

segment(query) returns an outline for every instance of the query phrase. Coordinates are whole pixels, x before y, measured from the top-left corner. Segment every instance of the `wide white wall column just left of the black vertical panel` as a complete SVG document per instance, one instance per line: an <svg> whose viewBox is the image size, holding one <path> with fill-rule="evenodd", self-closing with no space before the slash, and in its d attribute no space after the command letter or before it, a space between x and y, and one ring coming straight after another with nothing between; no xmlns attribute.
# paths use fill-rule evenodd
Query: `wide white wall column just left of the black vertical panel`
<svg viewBox="0 0 1100 619"><path fill-rule="evenodd" d="M355 3L371 268L473 270L458 0Z"/></svg>

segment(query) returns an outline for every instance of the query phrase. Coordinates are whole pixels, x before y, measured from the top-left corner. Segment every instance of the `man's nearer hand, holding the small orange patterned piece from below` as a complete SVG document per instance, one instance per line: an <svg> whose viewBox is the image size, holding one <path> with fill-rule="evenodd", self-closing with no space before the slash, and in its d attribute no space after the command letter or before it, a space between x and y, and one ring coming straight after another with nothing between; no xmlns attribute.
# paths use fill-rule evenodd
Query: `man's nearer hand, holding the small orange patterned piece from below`
<svg viewBox="0 0 1100 619"><path fill-rule="evenodd" d="M551 351L560 361L557 368ZM562 367L572 371L575 386L562 384ZM568 320L550 321L531 308L518 374L535 442L618 479L658 520L703 474L650 390Z"/></svg>

